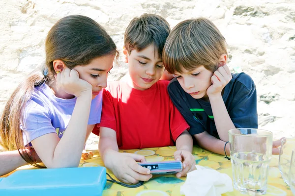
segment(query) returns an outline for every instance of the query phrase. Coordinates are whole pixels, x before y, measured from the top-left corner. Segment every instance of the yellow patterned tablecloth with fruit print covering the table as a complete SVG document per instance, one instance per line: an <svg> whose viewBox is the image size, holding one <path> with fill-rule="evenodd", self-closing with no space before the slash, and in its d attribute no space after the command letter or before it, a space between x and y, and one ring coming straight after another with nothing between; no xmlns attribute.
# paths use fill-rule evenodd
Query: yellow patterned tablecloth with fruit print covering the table
<svg viewBox="0 0 295 196"><path fill-rule="evenodd" d="M176 147L155 147L145 149L120 150L121 152L136 153L146 156L147 161L174 160L173 155ZM81 160L79 167L104 166L98 150L92 150L94 156L88 160ZM212 168L232 177L231 161L222 155L214 154L200 147L193 148L196 164ZM283 181L278 169L278 155L273 155L268 172L266 196L292 196L290 188ZM27 168L26 168L27 167ZM29 169L28 166L20 169ZM114 174L107 170L112 177ZM185 177L177 178L175 174L154 175L148 182L138 188L126 188L118 184L107 182L103 196L180 196L180 186L183 185ZM223 196L244 196L234 192L223 194Z"/></svg>

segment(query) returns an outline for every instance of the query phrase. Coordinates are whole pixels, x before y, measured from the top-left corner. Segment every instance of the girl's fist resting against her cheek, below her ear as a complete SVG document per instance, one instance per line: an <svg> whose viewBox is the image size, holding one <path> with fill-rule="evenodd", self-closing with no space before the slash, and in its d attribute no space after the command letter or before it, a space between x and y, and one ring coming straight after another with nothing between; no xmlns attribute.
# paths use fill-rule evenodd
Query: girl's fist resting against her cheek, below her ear
<svg viewBox="0 0 295 196"><path fill-rule="evenodd" d="M57 84L67 94L79 97L83 92L92 92L92 86L87 81L79 78L79 73L72 69L65 68L57 73Z"/></svg>

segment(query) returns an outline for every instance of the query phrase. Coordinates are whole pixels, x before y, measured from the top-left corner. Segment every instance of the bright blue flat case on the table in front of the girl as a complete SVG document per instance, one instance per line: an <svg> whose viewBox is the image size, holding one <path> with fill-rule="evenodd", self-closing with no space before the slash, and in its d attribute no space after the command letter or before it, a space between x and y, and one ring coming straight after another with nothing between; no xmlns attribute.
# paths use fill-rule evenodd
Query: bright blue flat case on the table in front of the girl
<svg viewBox="0 0 295 196"><path fill-rule="evenodd" d="M0 180L0 195L101 196L105 184L104 167L19 170Z"/></svg>

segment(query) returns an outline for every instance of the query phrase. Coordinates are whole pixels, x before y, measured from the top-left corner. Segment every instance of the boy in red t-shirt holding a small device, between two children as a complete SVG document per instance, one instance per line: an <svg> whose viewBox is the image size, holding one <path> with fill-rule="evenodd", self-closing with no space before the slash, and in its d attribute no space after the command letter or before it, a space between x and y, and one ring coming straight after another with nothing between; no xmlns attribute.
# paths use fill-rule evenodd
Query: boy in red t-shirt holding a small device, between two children
<svg viewBox="0 0 295 196"><path fill-rule="evenodd" d="M195 169L189 125L169 98L169 81L159 81L164 72L162 50L169 32L169 24L158 15L134 18L124 34L129 77L109 83L103 92L99 152L105 166L125 183L147 181L152 176L136 163L145 162L144 156L119 153L118 149L176 144L174 157L183 164L177 177Z"/></svg>

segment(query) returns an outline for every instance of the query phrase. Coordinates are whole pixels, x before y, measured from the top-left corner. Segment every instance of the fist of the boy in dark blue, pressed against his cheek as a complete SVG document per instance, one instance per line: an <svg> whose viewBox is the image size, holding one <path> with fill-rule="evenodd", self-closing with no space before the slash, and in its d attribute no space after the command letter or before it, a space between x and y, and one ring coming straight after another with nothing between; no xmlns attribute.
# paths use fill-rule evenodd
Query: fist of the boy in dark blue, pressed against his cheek
<svg viewBox="0 0 295 196"><path fill-rule="evenodd" d="M208 97L221 95L222 89L231 81L232 74L227 65L220 66L211 76L212 85L207 89Z"/></svg>

